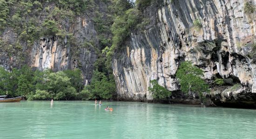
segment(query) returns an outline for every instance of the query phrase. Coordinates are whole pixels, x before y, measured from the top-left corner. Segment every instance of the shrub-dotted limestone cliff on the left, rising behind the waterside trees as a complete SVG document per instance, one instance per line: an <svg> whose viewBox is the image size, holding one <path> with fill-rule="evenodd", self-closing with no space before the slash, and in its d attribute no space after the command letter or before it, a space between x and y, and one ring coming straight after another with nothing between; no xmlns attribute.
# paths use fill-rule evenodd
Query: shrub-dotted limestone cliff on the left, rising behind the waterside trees
<svg viewBox="0 0 256 139"><path fill-rule="evenodd" d="M0 31L0 66L7 70L20 68L25 64L40 70L59 71L79 68L84 75L84 83L90 82L97 59L95 48L99 48L99 39L93 22L95 10L81 11L80 14L76 14L67 9L63 13L62 7L58 8L60 5L58 2L21 1L21 4L31 6L26 7L29 9L26 14L22 14L19 10L24 7L19 7L19 2L16 1L6 7L9 8L7 11L9 11L11 23L1 27L3 30ZM98 10L104 13L106 4L101 1L96 2L101 6ZM93 4L90 3L91 6ZM22 28L19 25L13 25L16 14L19 15L21 21L18 23ZM46 19L58 23L57 27L61 32L59 34L43 33L46 29L41 26ZM29 27L32 31L26 29ZM32 39L33 32L38 32L39 37ZM24 38L23 36L26 36L24 34L31 36Z"/></svg>

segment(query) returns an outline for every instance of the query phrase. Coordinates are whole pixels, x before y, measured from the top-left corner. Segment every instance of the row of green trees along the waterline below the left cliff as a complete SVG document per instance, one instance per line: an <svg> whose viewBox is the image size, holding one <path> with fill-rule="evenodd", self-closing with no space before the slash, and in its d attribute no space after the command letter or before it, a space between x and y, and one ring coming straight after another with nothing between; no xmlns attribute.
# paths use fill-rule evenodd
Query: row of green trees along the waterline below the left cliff
<svg viewBox="0 0 256 139"><path fill-rule="evenodd" d="M97 70L91 84L84 86L80 69L33 71L24 66L9 72L0 67L0 95L6 95L6 92L8 97L25 95L28 100L111 99L115 81Z"/></svg>

